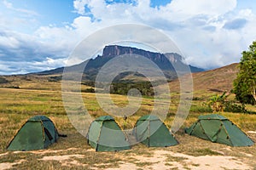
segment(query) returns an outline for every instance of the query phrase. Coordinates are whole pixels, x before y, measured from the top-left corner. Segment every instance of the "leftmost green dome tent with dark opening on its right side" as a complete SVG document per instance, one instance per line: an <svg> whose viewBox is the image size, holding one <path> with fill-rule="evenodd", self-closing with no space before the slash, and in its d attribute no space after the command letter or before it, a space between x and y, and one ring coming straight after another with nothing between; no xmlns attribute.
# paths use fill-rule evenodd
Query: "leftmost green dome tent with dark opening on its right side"
<svg viewBox="0 0 256 170"><path fill-rule="evenodd" d="M58 138L55 125L47 116L33 116L20 127L7 150L42 150Z"/></svg>

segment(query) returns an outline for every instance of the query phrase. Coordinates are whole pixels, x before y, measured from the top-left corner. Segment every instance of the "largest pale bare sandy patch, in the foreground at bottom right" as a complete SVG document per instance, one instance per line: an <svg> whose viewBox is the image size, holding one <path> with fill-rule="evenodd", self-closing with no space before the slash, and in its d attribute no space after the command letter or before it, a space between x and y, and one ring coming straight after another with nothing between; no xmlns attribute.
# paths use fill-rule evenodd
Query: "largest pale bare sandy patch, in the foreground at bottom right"
<svg viewBox="0 0 256 170"><path fill-rule="evenodd" d="M118 170L118 169L137 169L143 168L145 170L149 169L252 169L247 164L242 161L236 160L233 156L189 156L182 153L175 153L166 150L156 150L154 155L148 156L132 156L133 162L120 161L119 167L108 168L108 170ZM128 160L128 159L127 159ZM137 165L137 163L145 163L143 167ZM148 162L148 165L147 165Z"/></svg>

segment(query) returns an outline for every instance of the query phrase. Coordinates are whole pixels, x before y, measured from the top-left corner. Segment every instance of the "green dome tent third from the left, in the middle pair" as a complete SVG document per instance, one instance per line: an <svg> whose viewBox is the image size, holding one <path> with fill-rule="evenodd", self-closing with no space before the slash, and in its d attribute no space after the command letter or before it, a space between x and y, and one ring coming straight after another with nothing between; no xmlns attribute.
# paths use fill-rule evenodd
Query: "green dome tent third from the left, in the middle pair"
<svg viewBox="0 0 256 170"><path fill-rule="evenodd" d="M178 144L166 125L157 116L147 115L140 117L133 129L137 141L148 147L166 147Z"/></svg>

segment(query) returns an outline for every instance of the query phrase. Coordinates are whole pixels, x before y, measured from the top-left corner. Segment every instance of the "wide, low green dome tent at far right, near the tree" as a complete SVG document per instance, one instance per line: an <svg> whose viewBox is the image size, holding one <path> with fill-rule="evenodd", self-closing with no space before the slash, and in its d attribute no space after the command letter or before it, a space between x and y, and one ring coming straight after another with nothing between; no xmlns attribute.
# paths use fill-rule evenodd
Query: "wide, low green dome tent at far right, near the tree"
<svg viewBox="0 0 256 170"><path fill-rule="evenodd" d="M230 146L254 144L253 140L247 137L247 134L243 133L233 122L217 114L199 116L197 122L191 127L185 128L185 133Z"/></svg>

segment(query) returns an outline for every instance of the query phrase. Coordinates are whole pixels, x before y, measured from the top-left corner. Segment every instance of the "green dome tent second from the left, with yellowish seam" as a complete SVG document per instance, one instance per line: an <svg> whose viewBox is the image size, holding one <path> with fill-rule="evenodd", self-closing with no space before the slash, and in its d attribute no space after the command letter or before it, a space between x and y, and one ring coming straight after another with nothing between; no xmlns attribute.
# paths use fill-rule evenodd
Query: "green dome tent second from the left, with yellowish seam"
<svg viewBox="0 0 256 170"><path fill-rule="evenodd" d="M112 116L100 116L91 122L87 142L96 151L130 150L125 134Z"/></svg>

